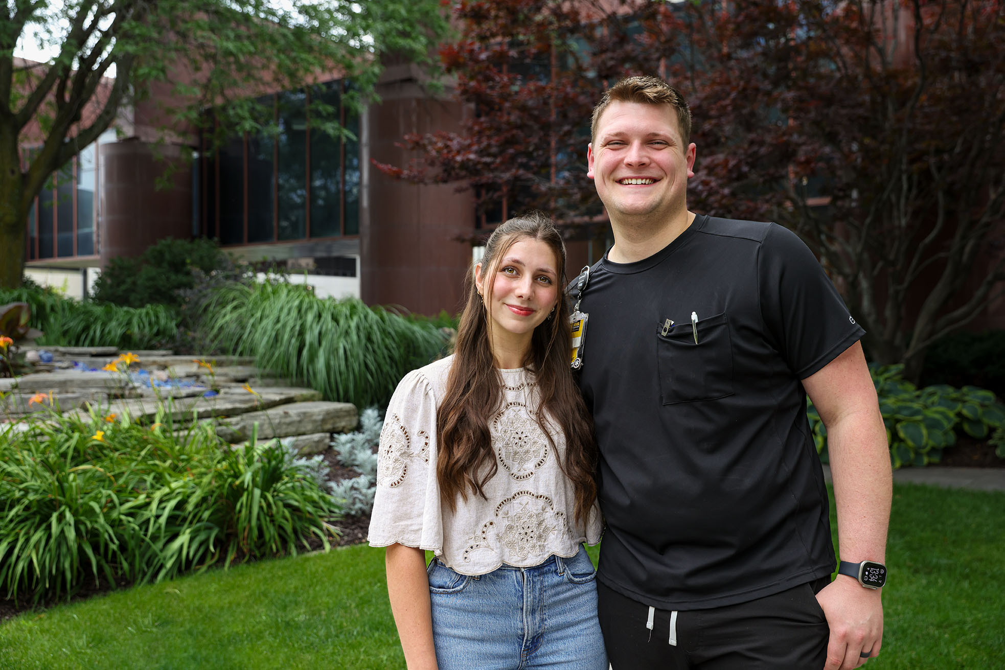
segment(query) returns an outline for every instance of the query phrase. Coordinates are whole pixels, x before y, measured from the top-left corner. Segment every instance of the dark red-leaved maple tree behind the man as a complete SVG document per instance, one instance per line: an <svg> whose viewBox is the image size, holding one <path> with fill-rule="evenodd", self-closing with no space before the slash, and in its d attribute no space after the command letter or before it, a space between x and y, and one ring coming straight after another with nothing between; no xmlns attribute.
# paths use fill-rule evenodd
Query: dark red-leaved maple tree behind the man
<svg viewBox="0 0 1005 670"><path fill-rule="evenodd" d="M415 162L386 173L473 188L489 220L538 207L596 226L591 108L658 74L694 116L689 208L799 233L874 361L917 379L926 348L1000 295L1000 1L462 0L454 18L440 55L474 114L404 138Z"/></svg>

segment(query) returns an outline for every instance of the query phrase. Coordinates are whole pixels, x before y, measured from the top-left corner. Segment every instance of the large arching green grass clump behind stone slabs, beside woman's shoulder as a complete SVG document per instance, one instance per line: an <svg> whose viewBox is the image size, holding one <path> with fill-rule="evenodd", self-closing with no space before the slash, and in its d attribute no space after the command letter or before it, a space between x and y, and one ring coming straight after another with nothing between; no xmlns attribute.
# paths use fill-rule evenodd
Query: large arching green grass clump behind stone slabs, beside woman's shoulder
<svg viewBox="0 0 1005 670"><path fill-rule="evenodd" d="M319 298L282 281L218 290L206 307L212 343L255 365L300 380L326 400L386 405L409 371L444 345L429 322L414 322L356 298Z"/></svg>

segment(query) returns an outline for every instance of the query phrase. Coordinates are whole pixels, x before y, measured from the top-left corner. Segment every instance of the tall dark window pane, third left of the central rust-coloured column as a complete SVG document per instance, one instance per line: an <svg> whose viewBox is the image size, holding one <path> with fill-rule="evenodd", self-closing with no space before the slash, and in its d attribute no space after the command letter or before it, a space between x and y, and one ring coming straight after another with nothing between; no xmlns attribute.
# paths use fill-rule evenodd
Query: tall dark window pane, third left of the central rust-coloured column
<svg viewBox="0 0 1005 670"><path fill-rule="evenodd" d="M307 93L293 90L278 95L278 234L280 240L307 236Z"/></svg>

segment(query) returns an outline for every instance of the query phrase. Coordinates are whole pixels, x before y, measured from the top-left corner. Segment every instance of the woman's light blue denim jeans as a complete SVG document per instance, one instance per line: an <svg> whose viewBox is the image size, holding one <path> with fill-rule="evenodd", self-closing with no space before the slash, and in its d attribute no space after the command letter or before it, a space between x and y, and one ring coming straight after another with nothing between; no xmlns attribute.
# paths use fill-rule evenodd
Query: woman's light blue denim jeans
<svg viewBox="0 0 1005 670"><path fill-rule="evenodd" d="M607 670L586 549L470 577L429 564L439 670Z"/></svg>

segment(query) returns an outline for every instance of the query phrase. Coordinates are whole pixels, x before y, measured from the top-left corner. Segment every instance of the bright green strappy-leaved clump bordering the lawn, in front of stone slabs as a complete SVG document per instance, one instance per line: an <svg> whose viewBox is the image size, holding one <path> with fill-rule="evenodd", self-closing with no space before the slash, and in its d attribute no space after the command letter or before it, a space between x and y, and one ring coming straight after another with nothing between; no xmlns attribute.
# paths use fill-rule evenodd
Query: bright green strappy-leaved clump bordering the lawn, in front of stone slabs
<svg viewBox="0 0 1005 670"><path fill-rule="evenodd" d="M277 441L230 448L208 423L30 417L0 426L0 597L157 582L330 546L337 501ZM319 541L312 542L312 538Z"/></svg>

